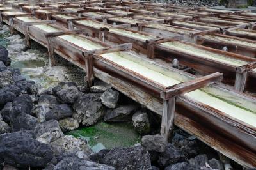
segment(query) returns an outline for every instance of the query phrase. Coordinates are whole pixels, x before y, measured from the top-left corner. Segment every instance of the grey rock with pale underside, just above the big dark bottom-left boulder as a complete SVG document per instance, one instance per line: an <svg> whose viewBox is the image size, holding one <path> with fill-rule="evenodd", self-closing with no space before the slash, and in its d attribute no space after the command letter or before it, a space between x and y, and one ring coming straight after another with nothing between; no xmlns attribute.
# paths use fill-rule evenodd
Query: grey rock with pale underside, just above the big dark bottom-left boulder
<svg viewBox="0 0 256 170"><path fill-rule="evenodd" d="M49 120L39 123L34 128L34 134L37 141L48 144L64 136L60 129L59 123L56 120Z"/></svg>

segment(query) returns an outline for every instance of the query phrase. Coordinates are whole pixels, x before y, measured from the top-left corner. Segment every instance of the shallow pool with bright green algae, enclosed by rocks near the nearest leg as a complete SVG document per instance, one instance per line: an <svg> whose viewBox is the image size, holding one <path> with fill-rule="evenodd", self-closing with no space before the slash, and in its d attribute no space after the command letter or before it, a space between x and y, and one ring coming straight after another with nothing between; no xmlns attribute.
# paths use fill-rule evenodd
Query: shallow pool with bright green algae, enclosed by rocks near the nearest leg
<svg viewBox="0 0 256 170"><path fill-rule="evenodd" d="M131 123L99 122L92 127L81 127L67 132L65 135L86 139L93 151L99 151L99 147L102 145L108 149L127 147L140 143L141 140Z"/></svg>

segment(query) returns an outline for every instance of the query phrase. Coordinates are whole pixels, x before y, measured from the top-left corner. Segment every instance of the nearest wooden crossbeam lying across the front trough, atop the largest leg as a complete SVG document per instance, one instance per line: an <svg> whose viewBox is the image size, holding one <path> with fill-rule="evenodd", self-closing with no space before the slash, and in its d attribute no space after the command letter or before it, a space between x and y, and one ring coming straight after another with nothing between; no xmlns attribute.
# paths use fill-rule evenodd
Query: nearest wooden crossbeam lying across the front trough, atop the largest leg
<svg viewBox="0 0 256 170"><path fill-rule="evenodd" d="M221 82L223 79L223 73L212 73L210 75L205 75L204 77L199 77L187 82L181 82L180 84L175 84L173 86L167 87L164 91L161 91L160 97L164 100L173 97L174 95L181 95L182 93L188 93L194 91L195 89L203 88L209 84L215 82Z"/></svg>

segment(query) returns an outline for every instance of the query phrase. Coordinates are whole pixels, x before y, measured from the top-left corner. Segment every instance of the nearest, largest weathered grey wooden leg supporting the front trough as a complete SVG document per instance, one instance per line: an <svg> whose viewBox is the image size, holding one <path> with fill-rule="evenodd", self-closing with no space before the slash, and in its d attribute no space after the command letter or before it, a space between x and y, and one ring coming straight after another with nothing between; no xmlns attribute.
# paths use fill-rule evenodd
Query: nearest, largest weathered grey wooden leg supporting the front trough
<svg viewBox="0 0 256 170"><path fill-rule="evenodd" d="M169 100L163 100L163 114L161 124L161 135L166 137L167 141L172 139L171 132L173 130L174 114L175 114L175 96Z"/></svg>

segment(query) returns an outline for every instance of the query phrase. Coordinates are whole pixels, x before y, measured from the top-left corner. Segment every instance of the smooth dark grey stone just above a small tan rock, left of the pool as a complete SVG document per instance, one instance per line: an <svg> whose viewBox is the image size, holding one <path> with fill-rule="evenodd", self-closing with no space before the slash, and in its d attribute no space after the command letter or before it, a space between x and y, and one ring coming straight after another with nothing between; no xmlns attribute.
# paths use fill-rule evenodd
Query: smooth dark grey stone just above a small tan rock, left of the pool
<svg viewBox="0 0 256 170"><path fill-rule="evenodd" d="M45 114L45 120L61 120L72 116L72 109L67 104L60 104Z"/></svg>

